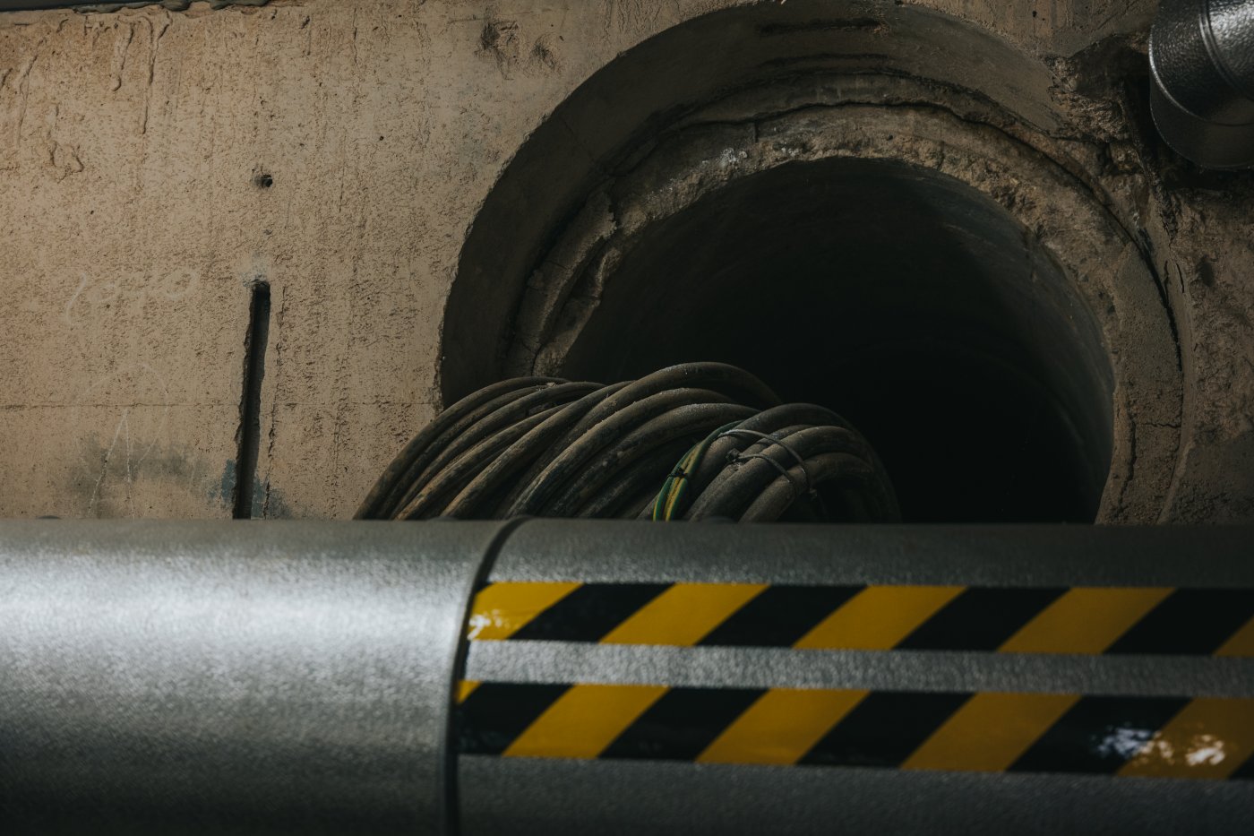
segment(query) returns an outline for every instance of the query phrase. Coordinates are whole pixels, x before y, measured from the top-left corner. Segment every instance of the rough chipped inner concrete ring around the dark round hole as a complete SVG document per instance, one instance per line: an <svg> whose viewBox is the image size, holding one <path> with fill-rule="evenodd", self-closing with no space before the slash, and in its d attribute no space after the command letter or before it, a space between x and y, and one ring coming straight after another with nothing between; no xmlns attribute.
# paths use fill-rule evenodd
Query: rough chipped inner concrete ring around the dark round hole
<svg viewBox="0 0 1254 836"><path fill-rule="evenodd" d="M1056 143L1047 131L986 95L908 74L808 69L806 77L739 85L700 109L653 122L623 139L613 164L602 166L591 185L564 183L582 192L578 202L539 227L529 264L498 276L519 287L507 303L508 329L493 362L498 375L561 370L594 309L597 287L613 280L614 254L726 185L795 162L904 162L1001 205L1071 279L1100 328L1114 374L1111 467L1096 520L1157 521L1179 446L1179 353L1154 270L1101 190L1081 168L1048 153ZM530 156L520 153L523 162L545 156L537 156L535 141L528 143ZM480 223L492 228L494 218L477 221L485 240ZM478 257L473 244L463 252L463 271ZM450 303L448 316L458 315ZM464 379L464 373L444 375L445 394L460 394L464 383L453 383L451 392L449 384Z"/></svg>

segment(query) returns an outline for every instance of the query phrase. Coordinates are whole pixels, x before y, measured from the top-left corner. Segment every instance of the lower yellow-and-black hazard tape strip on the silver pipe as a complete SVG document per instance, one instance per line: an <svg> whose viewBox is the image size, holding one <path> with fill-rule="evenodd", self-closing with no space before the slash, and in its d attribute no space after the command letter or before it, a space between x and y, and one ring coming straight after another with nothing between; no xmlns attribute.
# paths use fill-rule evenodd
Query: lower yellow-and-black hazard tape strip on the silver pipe
<svg viewBox="0 0 1254 836"><path fill-rule="evenodd" d="M1254 699L465 683L461 754L1254 780Z"/></svg>

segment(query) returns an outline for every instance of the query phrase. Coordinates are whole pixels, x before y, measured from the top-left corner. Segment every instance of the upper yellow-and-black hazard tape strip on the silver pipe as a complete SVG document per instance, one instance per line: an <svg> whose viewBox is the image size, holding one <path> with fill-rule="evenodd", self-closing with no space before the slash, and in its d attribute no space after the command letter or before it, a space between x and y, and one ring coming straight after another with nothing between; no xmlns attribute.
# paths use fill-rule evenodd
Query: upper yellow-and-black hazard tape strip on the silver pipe
<svg viewBox="0 0 1254 836"><path fill-rule="evenodd" d="M468 638L1254 656L1254 590L500 581Z"/></svg>

